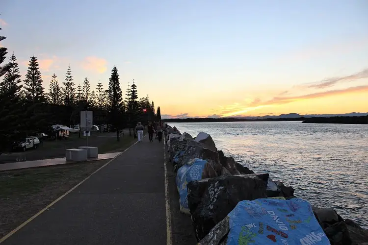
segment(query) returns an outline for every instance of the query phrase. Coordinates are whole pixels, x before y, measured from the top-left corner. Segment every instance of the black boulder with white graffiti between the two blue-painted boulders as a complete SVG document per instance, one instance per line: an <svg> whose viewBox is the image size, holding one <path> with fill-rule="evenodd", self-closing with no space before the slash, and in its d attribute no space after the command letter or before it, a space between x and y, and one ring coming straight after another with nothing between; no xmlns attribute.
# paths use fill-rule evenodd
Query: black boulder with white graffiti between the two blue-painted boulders
<svg viewBox="0 0 368 245"><path fill-rule="evenodd" d="M268 173L220 176L188 183L188 206L200 240L241 200L266 197Z"/></svg>

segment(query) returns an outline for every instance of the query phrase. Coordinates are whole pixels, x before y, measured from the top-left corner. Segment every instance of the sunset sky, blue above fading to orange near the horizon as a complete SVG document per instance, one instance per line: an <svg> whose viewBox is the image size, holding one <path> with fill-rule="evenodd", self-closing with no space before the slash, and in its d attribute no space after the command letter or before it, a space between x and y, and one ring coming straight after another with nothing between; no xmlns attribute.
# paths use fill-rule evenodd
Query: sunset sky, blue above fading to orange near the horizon
<svg viewBox="0 0 368 245"><path fill-rule="evenodd" d="M368 112L367 0L1 0L1 42L44 86L114 65L164 117ZM46 91L47 91L46 90Z"/></svg>

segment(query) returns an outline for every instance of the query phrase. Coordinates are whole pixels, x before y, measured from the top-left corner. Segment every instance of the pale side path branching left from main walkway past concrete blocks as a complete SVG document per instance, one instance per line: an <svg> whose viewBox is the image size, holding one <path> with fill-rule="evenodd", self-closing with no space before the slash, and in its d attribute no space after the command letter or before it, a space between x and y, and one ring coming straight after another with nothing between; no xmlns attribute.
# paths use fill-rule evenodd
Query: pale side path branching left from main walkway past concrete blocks
<svg viewBox="0 0 368 245"><path fill-rule="evenodd" d="M119 153L120 152L99 154L98 157L88 158L87 162L112 159L116 157L117 155L119 155ZM76 162L67 161L65 157L62 157L62 158L51 158L51 159L34 160L34 161L2 163L0 164L0 171L37 168L37 167L45 167L45 166L52 166L52 165L69 164L69 163L76 163Z"/></svg>

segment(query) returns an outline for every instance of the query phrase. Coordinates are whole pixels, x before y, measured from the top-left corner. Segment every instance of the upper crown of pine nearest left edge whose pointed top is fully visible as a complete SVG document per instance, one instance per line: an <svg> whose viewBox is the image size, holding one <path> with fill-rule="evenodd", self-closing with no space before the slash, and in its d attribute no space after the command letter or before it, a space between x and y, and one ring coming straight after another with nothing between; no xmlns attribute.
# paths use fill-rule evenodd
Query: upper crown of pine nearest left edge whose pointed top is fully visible
<svg viewBox="0 0 368 245"><path fill-rule="evenodd" d="M23 85L20 83L22 82L20 77L21 74L19 73L19 64L17 62L17 58L13 54L10 56L10 69L5 74L3 81L0 83L0 93L9 93L12 98L19 98L21 96L21 89Z"/></svg>

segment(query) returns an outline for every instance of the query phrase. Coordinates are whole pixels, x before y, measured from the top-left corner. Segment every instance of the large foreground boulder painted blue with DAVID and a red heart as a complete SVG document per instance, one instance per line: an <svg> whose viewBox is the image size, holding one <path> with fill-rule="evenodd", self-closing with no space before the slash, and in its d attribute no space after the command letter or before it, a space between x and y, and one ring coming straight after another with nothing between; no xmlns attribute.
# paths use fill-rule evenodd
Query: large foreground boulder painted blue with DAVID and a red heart
<svg viewBox="0 0 368 245"><path fill-rule="evenodd" d="M272 242L271 242L272 241ZM199 245L329 245L309 202L297 198L243 200Z"/></svg>

